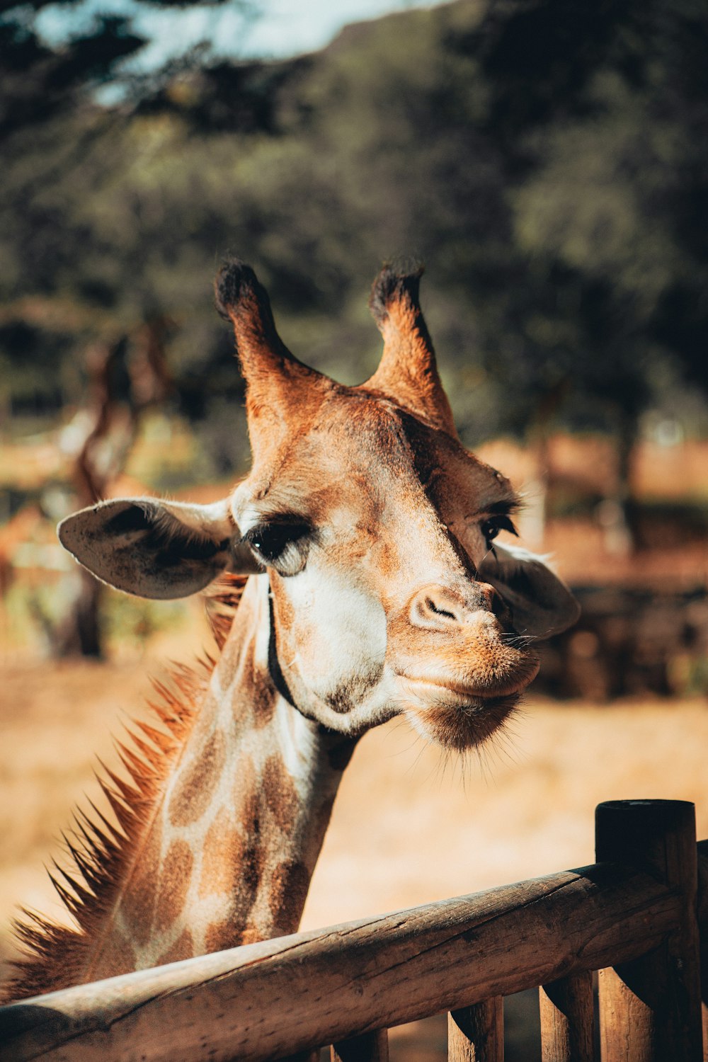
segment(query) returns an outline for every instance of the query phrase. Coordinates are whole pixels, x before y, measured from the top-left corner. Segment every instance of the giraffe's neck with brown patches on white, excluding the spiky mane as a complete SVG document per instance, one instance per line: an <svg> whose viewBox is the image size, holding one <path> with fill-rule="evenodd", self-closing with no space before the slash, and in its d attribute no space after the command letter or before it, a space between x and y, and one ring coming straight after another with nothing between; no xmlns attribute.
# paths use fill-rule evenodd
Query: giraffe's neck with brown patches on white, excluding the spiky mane
<svg viewBox="0 0 708 1062"><path fill-rule="evenodd" d="M85 980L297 929L355 742L278 692L269 644L256 576Z"/></svg>

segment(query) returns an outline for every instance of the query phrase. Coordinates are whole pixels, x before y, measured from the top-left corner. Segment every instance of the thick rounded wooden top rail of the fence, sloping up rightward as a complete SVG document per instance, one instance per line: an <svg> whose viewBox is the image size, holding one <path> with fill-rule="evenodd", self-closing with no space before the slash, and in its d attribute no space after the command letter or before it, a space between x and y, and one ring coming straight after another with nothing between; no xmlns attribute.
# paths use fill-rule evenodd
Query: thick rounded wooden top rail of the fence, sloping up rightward
<svg viewBox="0 0 708 1062"><path fill-rule="evenodd" d="M13 1062L276 1059L626 961L683 900L611 864L202 956L0 1010Z"/></svg>

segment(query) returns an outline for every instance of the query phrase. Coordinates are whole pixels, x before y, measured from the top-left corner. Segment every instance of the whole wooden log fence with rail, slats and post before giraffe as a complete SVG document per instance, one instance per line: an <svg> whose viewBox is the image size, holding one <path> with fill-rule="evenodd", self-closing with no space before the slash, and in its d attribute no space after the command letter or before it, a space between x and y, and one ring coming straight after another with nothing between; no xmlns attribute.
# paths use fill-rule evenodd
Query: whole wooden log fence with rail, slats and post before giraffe
<svg viewBox="0 0 708 1062"><path fill-rule="evenodd" d="M700 1062L693 805L601 804L595 827L591 867L2 1008L0 1057L365 1062L390 1026L448 1011L449 1059L501 1062L503 997L538 986L543 1062L590 1062L599 971L603 1062Z"/></svg>

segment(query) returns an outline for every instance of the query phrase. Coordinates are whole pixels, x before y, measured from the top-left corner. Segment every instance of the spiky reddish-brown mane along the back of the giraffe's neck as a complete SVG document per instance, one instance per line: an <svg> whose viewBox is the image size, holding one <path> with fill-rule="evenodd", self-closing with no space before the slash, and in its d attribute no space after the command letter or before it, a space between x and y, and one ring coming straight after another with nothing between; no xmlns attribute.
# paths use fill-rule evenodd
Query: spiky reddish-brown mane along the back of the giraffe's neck
<svg viewBox="0 0 708 1062"><path fill-rule="evenodd" d="M245 578L225 575L204 593L209 626L219 653L236 615ZM156 699L149 706L161 729L133 720L128 743L116 741L129 782L101 763L97 780L118 827L93 804L76 808L70 835L63 834L69 870L52 859L49 877L74 925L66 926L37 911L20 908L13 928L23 956L12 962L13 976L3 986L2 1001L12 1001L69 987L81 980L91 944L91 931L116 901L136 854L155 800L187 739L217 658L205 654L192 667L172 664L167 681L152 680Z"/></svg>

